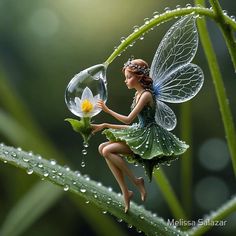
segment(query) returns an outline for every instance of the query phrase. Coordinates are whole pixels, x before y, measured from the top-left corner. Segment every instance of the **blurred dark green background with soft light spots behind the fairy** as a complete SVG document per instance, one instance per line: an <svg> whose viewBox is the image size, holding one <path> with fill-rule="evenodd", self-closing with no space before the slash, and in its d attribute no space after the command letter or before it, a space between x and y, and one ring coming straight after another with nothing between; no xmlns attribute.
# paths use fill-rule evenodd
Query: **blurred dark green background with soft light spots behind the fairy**
<svg viewBox="0 0 236 236"><path fill-rule="evenodd" d="M48 159L57 159L60 164L80 170L81 173L119 192L115 179L97 151L98 145L105 141L101 134L91 139L88 155L85 157L86 166L80 166L82 139L64 122L66 117L73 117L64 102L65 88L79 71L104 62L119 44L120 38L130 34L133 26L142 25L144 18L151 18L154 11L163 12L165 7L173 9L176 5L185 6L186 3L193 2L0 0L0 142L21 146L22 149L40 153ZM236 14L235 1L227 0L220 3L228 10L229 15ZM151 63L161 38L171 24L173 21L162 24L147 34L144 40L138 41L109 66L107 104L110 108L128 114L133 91L125 87L121 73L122 65L131 55ZM235 121L236 76L219 29L212 21L208 20L208 24ZM201 45L194 63L200 65L205 74L203 89L190 102L194 166L191 219L197 220L230 199L235 193L235 179L213 83ZM6 84L10 91L5 89ZM7 92L4 94L4 91ZM18 103L14 102L14 99L11 100L11 96ZM29 120L34 120L38 124L40 132L48 136L52 145L56 147L56 152L46 151L37 139L29 139L28 134L23 135L24 132L30 133L32 127L18 112L22 111L19 103L24 104L24 109L29 113L23 113ZM180 119L181 106L171 107ZM116 122L103 113L97 115L94 121ZM180 136L180 126L177 125L173 132ZM43 139L40 135L38 138ZM55 154L58 152L64 158ZM140 167L131 168L137 175L143 175ZM180 198L180 162L163 169ZM1 223L6 219L10 209L38 180L35 176L29 177L21 170L1 163ZM158 186L153 182L147 184L147 188L149 195L145 207L165 220L172 219ZM134 201L140 204L138 197L134 198ZM79 204L85 205L84 202ZM98 235L87 222L86 214L81 209L72 200L71 194L66 193L22 235ZM124 235L138 234L134 229L128 229L124 223L117 223L116 219L110 218L115 224L119 224ZM227 220L224 228L213 229L208 235L232 235L236 232L236 226L232 224L236 220L236 214Z"/></svg>

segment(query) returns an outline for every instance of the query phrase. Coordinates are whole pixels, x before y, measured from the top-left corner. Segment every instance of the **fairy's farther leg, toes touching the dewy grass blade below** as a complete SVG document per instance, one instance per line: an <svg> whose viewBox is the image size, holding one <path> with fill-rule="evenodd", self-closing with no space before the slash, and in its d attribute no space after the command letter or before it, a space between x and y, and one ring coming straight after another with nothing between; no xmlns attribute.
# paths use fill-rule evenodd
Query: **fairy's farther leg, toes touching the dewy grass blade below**
<svg viewBox="0 0 236 236"><path fill-rule="evenodd" d="M99 146L98 150L99 150L100 154L103 154L103 152L102 152L103 148L108 146L109 144L110 144L110 142L106 142L106 143L102 143ZM129 210L130 199L133 196L133 192L128 190L127 185L125 183L123 172L115 164L113 164L113 162L110 161L108 158L105 158L105 160L106 160L106 163L107 163L108 167L110 168L112 174L116 178L116 181L118 182L118 184L120 186L121 192L124 196L125 213L127 213L127 211Z"/></svg>

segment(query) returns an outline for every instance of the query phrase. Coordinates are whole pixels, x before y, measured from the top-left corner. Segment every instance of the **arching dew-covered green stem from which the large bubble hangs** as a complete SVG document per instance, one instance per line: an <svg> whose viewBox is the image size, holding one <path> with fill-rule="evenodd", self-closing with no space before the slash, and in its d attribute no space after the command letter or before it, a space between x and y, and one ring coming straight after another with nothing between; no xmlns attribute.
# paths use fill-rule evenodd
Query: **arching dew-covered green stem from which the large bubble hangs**
<svg viewBox="0 0 236 236"><path fill-rule="evenodd" d="M109 65L118 55L120 55L128 46L133 45L136 40L138 40L141 36L147 33L149 30L153 29L155 26L166 22L168 20L174 19L176 17L188 15L191 13L195 13L200 16L208 16L212 19L215 19L215 14L212 10L204 7L189 7L189 8L180 8L171 10L169 12L165 12L163 14L158 15L157 17L152 18L149 23L144 24L139 27L139 29L133 33L131 33L122 43L116 48L116 50L107 58L105 61L106 65ZM224 20L227 24L229 24L232 29L236 30L236 22L234 22L230 17L224 16Z"/></svg>

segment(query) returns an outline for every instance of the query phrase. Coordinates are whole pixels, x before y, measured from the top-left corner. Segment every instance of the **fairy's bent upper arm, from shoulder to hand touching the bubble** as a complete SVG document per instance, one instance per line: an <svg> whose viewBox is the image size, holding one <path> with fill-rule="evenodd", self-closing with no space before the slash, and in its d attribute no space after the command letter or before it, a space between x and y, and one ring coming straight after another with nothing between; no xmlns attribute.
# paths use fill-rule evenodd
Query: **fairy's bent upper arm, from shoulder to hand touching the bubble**
<svg viewBox="0 0 236 236"><path fill-rule="evenodd" d="M124 124L130 124L135 117L139 114L139 112L143 109L143 107L150 103L152 101L152 95L150 92L146 91L144 92L137 105L135 106L135 108L130 112L130 114L128 116L125 115L121 115L115 111L112 111L111 109L109 109L105 103L100 100L98 102L98 107L100 107L103 111L105 111L106 113L110 114L111 116L113 116L114 118L116 118L117 120L121 121Z"/></svg>

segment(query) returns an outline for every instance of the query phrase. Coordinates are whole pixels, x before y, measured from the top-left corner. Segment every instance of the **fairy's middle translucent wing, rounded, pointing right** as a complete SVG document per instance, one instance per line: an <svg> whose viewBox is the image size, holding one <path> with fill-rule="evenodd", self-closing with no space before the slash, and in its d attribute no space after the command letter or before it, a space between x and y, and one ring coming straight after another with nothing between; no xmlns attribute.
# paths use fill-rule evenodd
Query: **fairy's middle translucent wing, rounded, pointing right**
<svg viewBox="0 0 236 236"><path fill-rule="evenodd" d="M204 75L195 64L187 64L159 80L154 86L158 100L181 103L193 98L201 89Z"/></svg>

